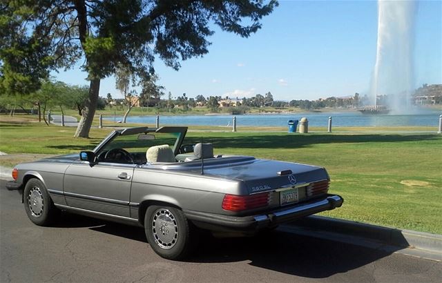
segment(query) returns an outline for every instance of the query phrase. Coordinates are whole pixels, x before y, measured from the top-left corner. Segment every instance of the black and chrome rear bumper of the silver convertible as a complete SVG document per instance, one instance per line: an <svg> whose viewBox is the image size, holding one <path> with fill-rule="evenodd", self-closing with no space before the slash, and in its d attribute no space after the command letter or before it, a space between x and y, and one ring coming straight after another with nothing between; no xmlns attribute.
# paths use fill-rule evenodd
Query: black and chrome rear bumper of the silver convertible
<svg viewBox="0 0 442 283"><path fill-rule="evenodd" d="M240 217L189 210L183 210L183 212L188 219L200 228L213 231L258 231L262 228L292 222L300 217L321 211L332 210L340 207L343 202L344 199L339 195L326 195L323 198L303 202L296 206Z"/></svg>

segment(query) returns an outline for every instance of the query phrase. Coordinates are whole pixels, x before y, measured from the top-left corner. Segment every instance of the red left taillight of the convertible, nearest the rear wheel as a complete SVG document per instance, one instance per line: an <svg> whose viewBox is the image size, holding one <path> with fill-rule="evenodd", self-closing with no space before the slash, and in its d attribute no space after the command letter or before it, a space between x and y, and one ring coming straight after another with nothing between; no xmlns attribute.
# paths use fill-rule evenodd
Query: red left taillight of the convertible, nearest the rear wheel
<svg viewBox="0 0 442 283"><path fill-rule="evenodd" d="M256 195L224 195L222 209L226 211L245 211L247 209L267 206L269 193L257 193Z"/></svg>

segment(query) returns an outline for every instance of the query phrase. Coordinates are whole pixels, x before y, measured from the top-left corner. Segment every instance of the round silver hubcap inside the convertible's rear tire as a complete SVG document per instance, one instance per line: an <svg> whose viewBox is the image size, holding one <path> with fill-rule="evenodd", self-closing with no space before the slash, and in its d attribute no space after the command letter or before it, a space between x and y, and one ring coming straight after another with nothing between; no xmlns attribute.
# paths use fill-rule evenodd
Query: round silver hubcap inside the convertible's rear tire
<svg viewBox="0 0 442 283"><path fill-rule="evenodd" d="M155 211L151 221L153 238L158 246L169 249L178 239L178 226L175 216L165 208Z"/></svg>

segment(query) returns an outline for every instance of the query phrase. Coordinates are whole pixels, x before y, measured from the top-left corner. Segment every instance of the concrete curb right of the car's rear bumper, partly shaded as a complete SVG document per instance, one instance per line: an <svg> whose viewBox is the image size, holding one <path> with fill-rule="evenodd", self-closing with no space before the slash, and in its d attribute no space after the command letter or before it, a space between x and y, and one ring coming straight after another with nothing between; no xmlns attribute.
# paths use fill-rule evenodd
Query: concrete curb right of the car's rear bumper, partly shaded
<svg viewBox="0 0 442 283"><path fill-rule="evenodd" d="M361 237L389 246L418 248L442 253L442 235L437 234L401 230L317 215L292 222L290 226L302 227L310 231L327 231L340 235Z"/></svg>

